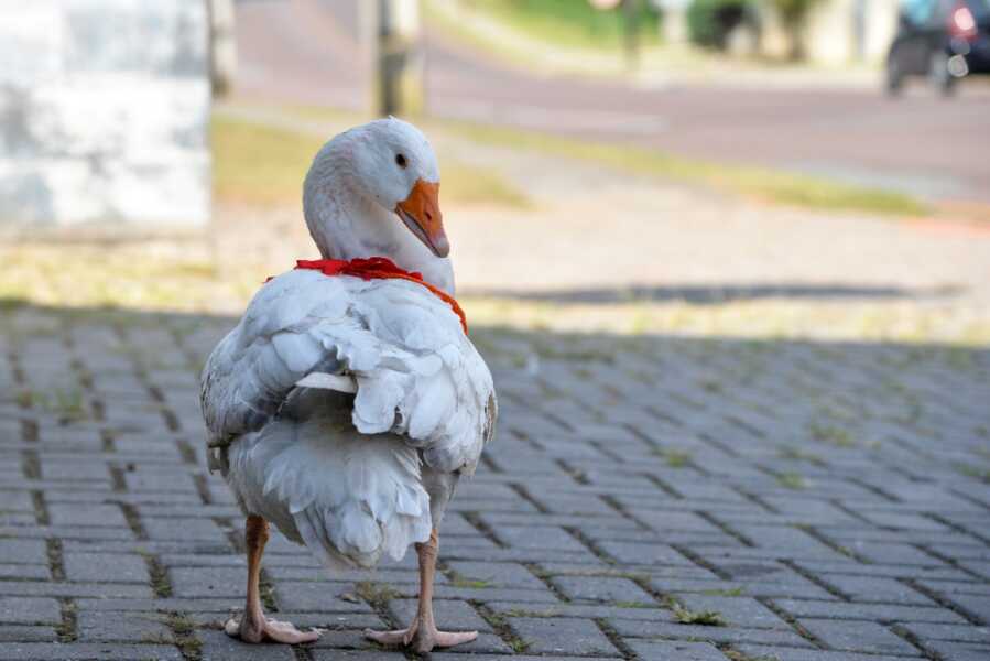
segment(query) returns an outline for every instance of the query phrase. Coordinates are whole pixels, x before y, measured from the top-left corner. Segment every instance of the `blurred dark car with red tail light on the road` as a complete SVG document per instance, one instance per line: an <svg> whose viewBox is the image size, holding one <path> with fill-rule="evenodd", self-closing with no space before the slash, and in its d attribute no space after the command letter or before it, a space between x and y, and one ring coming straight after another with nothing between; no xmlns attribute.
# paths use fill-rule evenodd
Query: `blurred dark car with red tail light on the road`
<svg viewBox="0 0 990 661"><path fill-rule="evenodd" d="M943 93L970 74L990 73L990 0L902 0L886 57L886 89L928 76Z"/></svg>

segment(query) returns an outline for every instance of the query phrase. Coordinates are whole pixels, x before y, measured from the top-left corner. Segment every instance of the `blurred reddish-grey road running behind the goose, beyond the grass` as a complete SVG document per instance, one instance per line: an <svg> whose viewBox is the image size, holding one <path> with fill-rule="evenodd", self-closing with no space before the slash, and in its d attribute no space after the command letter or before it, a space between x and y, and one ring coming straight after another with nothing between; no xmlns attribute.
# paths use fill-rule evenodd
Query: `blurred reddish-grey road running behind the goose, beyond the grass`
<svg viewBox="0 0 990 661"><path fill-rule="evenodd" d="M367 99L355 0L238 4L238 89L359 109ZM686 156L783 167L933 199L990 202L990 87L892 101L877 88L696 85L642 88L544 77L431 30L436 117L634 142Z"/></svg>

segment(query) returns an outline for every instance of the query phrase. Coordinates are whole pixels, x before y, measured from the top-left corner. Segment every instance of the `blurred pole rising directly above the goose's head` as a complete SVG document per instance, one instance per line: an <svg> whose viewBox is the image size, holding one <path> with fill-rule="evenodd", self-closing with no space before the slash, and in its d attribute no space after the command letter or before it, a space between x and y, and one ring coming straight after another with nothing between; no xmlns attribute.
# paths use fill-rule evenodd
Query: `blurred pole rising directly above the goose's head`
<svg viewBox="0 0 990 661"><path fill-rule="evenodd" d="M377 116L423 113L423 47L418 0L361 2L371 69L371 107Z"/></svg>

